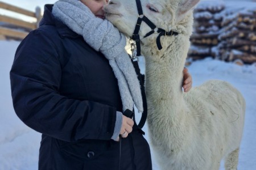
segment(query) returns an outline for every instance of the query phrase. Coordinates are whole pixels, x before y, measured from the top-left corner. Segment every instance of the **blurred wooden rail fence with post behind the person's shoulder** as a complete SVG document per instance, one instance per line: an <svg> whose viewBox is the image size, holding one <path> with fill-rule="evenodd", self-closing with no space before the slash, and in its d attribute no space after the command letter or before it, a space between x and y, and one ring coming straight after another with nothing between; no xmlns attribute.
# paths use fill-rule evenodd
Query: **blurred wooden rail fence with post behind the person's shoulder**
<svg viewBox="0 0 256 170"><path fill-rule="evenodd" d="M36 7L35 12L32 12L0 1L0 9L30 16L36 20L36 22L26 22L24 20L0 14L0 39L22 40L30 31L38 28L39 22L42 19L41 9L39 7Z"/></svg>

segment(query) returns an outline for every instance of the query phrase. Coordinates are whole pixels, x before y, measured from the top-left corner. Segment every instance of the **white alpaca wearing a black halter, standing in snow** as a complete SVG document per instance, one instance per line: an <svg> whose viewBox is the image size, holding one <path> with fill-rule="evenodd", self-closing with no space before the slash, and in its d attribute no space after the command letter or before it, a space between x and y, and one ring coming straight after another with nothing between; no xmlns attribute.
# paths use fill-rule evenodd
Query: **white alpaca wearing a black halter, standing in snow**
<svg viewBox="0 0 256 170"><path fill-rule="evenodd" d="M237 169L245 116L245 100L229 83L210 80L188 93L181 91L182 70L192 33L193 8L199 0L141 0L143 14L158 28L177 36L158 34L141 24L142 54L146 61L148 126L162 169ZM131 36L138 18L135 0L112 0L105 8L120 31ZM202 66L204 67L204 66Z"/></svg>

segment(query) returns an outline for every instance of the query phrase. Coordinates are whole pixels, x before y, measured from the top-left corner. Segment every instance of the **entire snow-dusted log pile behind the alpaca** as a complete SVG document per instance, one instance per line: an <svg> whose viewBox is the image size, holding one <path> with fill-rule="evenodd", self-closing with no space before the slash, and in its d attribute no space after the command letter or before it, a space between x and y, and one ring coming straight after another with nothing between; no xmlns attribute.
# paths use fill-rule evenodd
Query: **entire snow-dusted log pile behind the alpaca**
<svg viewBox="0 0 256 170"><path fill-rule="evenodd" d="M256 62L256 9L230 7L221 1L200 3L188 57L213 57L228 62Z"/></svg>

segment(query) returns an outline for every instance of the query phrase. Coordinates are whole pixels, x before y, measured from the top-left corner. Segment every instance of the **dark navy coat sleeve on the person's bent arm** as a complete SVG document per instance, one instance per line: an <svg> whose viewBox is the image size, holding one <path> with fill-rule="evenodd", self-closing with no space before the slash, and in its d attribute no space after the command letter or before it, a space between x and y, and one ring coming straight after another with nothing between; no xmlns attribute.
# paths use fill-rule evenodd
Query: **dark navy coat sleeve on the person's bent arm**
<svg viewBox="0 0 256 170"><path fill-rule="evenodd" d="M20 43L10 80L15 112L30 128L64 141L112 137L114 107L59 94L59 52L44 33L33 31Z"/></svg>

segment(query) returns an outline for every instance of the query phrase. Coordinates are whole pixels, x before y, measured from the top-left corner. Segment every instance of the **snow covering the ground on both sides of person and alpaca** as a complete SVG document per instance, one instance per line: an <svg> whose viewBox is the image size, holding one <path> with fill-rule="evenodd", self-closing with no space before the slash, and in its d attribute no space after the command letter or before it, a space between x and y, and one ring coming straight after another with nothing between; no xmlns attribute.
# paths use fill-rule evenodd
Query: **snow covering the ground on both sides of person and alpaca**
<svg viewBox="0 0 256 170"><path fill-rule="evenodd" d="M0 41L0 170L34 170L38 167L41 135L19 120L11 101L9 71L18 45L18 41ZM142 72L143 62L140 59ZM256 65L238 66L206 58L192 62L188 69L192 74L193 86L209 79L222 79L242 92L246 99L246 117L238 169L256 169ZM147 126L144 126L144 131L149 141ZM154 152L152 163L154 170L157 170Z"/></svg>

